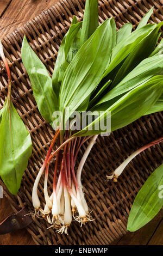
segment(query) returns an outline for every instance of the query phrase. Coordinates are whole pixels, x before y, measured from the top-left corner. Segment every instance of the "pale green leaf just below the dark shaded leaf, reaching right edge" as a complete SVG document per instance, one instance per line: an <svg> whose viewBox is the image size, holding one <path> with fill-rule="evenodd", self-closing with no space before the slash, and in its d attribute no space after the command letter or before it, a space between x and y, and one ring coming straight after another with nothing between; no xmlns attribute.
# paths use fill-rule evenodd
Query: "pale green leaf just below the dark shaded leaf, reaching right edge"
<svg viewBox="0 0 163 256"><path fill-rule="evenodd" d="M119 95L123 95L129 90L139 86L153 76L163 74L162 56L153 56L144 59L136 66L123 80L117 84L110 92L106 93L97 105L108 102Z"/></svg>

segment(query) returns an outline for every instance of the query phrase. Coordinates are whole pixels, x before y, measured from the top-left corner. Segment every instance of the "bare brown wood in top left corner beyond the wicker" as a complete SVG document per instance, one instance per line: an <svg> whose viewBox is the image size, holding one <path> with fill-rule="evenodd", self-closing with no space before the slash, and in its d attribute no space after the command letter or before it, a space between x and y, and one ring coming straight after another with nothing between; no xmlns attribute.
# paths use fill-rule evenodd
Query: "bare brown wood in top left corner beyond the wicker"
<svg viewBox="0 0 163 256"><path fill-rule="evenodd" d="M0 38L15 31L57 2L58 0L12 0L0 19Z"/></svg>

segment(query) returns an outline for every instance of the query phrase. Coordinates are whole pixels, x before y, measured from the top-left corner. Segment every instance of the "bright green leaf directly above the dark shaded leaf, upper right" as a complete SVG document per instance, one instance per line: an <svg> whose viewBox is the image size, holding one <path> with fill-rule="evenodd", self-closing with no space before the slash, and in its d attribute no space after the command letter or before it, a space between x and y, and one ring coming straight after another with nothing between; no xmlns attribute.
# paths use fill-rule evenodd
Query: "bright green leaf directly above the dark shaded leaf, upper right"
<svg viewBox="0 0 163 256"><path fill-rule="evenodd" d="M156 27L156 24L148 24L136 31L132 32L127 38L124 38L119 44L117 44L111 53L111 62L108 68L105 70L104 78L108 75L118 64L120 64L128 54L134 50L135 46L145 38L149 33L153 31Z"/></svg>

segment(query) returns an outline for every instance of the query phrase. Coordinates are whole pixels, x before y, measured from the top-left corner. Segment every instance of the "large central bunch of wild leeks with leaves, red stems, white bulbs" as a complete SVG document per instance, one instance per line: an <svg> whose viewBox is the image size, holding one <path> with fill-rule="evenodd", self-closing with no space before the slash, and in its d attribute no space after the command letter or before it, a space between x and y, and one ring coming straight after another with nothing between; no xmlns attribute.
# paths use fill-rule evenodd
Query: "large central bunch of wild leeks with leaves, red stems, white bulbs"
<svg viewBox="0 0 163 256"><path fill-rule="evenodd" d="M52 78L24 36L22 61L39 111L55 130L35 180L33 205L36 216L45 218L58 232L67 233L72 218L81 225L92 221L81 174L98 135L162 108L159 98L163 93L163 58L155 47L163 22L147 24L152 12L153 8L135 31L131 32L132 25L127 23L117 32L112 17L98 26L98 1L87 0L83 23L74 17L61 42ZM56 112L60 113L58 119ZM75 131L72 127L85 112L87 117ZM77 118L74 113L78 113ZM107 123L110 114L111 126L103 129L98 124ZM87 147L77 166L84 143ZM54 175L51 194L49 171ZM37 188L43 173L45 202L40 202Z"/></svg>

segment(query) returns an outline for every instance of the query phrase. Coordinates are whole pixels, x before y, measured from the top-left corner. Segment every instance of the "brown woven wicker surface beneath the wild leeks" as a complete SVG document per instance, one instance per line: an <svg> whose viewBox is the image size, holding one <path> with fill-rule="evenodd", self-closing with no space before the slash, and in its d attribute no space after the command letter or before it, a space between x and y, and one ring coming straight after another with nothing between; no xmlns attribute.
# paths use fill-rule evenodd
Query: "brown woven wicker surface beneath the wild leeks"
<svg viewBox="0 0 163 256"><path fill-rule="evenodd" d="M33 154L24 173L22 185L17 197L4 187L15 212L24 205L29 212L32 207L32 188L37 172L45 159L53 130L41 117L26 70L21 60L21 44L26 34L30 45L52 74L60 42L67 32L73 15L83 18L85 0L62 0L44 11L22 28L3 40L5 54L10 62L12 73L12 100L18 113L26 124L33 141ZM134 27L142 16L155 7L151 22L160 22L163 18L160 0L101 0L99 1L99 21L110 16L115 17L117 27L131 22ZM7 74L0 63L0 105L7 96ZM127 230L127 219L136 193L148 176L162 163L163 144L148 149L137 156L126 168L123 175L114 184L106 181L106 175L112 172L134 150L163 135L163 115L156 113L143 117L133 124L117 130L109 137L99 137L83 169L85 196L95 221L82 228L71 224L69 235L57 234L47 229L48 224L33 217L33 223L27 228L37 245L108 245L123 236ZM82 157L84 147L80 150ZM52 175L49 175L49 188L52 187ZM3 184L0 181L1 185ZM39 185L39 196L43 199L43 177Z"/></svg>

